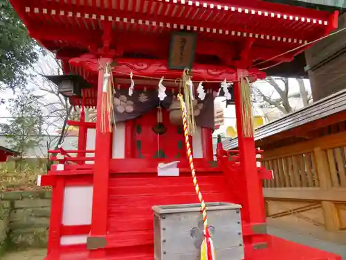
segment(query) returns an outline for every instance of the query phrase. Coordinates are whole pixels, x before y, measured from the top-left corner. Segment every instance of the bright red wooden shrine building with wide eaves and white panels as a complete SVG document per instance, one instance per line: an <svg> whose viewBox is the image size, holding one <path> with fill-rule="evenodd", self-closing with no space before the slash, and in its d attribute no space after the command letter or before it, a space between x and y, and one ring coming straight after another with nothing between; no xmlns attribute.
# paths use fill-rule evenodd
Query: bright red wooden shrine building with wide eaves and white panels
<svg viewBox="0 0 346 260"><path fill-rule="evenodd" d="M196 259L197 225L185 222L192 217L172 218L181 225L170 229L152 209L200 202L187 148L203 198L214 203L207 212L217 259L340 259L266 233L262 180L271 173L256 162L261 151L246 123L251 110L244 112L246 86L337 28L337 12L260 0L10 2L30 36L62 61L64 76L48 78L82 107L81 120L69 121L79 127L78 150L50 151L57 164L39 178L53 187L46 260ZM213 100L220 88L236 106L239 150L219 144L214 161ZM188 139L174 106L181 92L195 95L196 129ZM87 107L96 108L95 123L84 120ZM172 162L174 171L160 170ZM228 204L242 207L228 208L239 220L224 211L213 215L212 207ZM221 215L229 216L225 228L216 226ZM229 225L238 225L237 232L222 231Z"/></svg>

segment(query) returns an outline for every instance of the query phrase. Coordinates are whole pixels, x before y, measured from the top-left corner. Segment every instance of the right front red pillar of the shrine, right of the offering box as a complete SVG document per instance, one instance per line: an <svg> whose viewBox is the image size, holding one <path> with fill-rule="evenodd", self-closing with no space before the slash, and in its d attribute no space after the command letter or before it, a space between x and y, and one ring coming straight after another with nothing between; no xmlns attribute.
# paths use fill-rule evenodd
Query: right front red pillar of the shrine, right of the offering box
<svg viewBox="0 0 346 260"><path fill-rule="evenodd" d="M238 81L234 83L235 95L235 114L237 116L237 133L238 133L238 148L240 165L242 168L242 182L244 182L244 205L243 219L251 225L262 224L266 222L264 211L264 198L262 191L262 182L257 172L256 155L255 155L255 140L253 137L244 137L242 125L242 103L240 92L240 76ZM263 239L263 237L262 237ZM252 243L259 243L261 239L253 236Z"/></svg>

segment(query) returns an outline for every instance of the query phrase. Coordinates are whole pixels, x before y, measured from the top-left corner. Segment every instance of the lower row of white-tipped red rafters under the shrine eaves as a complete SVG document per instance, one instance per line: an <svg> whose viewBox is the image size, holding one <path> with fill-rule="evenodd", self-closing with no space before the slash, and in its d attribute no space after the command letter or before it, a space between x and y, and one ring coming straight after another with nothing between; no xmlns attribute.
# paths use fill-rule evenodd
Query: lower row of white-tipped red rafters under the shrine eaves
<svg viewBox="0 0 346 260"><path fill-rule="evenodd" d="M166 17L164 15L129 12L127 10L101 10L92 8L91 6L78 8L78 6L57 2L37 5L35 2L30 1L30 3L26 3L26 12L51 17L73 17L75 19L88 20L89 22L108 20L116 23L138 24L140 26L158 26L161 28L170 28L170 30L180 28L187 29L188 31L224 35L227 37L254 37L257 40L273 40L288 45L302 44L303 42L307 42L307 40L314 40L308 37L306 31L295 33L295 37L292 37L289 32L282 30L271 33L271 31L260 31L250 26L245 28L237 24L226 25L218 22L203 21L201 19L190 19L190 17ZM322 31L324 29L320 28L320 33Z"/></svg>

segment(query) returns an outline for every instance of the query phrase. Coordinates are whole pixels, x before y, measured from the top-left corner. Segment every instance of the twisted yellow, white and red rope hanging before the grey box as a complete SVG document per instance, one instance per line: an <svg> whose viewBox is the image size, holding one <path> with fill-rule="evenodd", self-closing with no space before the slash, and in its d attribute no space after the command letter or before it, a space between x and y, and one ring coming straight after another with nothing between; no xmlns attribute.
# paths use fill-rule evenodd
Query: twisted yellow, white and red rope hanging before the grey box
<svg viewBox="0 0 346 260"><path fill-rule="evenodd" d="M188 150L188 159L190 162L192 180L194 183L194 189L196 190L197 196L199 198L199 202L201 203L202 215L203 215L203 232L204 232L205 237L204 237L203 243L201 245L201 260L215 260L216 258L215 258L214 245L212 243L212 239L210 238L210 234L209 234L209 230L208 230L206 203L203 200L203 196L202 196L201 191L199 191L199 184L197 182L196 170L194 169L194 162L193 162L191 146L190 146L190 141L189 141L186 106L185 106L185 102L183 101L183 96L181 94L178 94L178 98L179 98L180 105L181 105L185 144L186 144L186 149Z"/></svg>

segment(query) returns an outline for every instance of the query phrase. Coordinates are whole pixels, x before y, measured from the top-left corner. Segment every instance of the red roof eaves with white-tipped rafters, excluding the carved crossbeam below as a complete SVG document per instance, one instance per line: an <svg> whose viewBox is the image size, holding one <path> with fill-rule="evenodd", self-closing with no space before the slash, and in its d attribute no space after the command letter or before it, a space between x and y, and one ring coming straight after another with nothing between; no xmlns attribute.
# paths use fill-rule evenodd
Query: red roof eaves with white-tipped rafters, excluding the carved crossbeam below
<svg viewBox="0 0 346 260"><path fill-rule="evenodd" d="M11 0L30 35L60 57L102 46L121 53L165 56L172 31L197 32L197 54L266 60L336 28L337 13L259 0ZM251 42L251 52L246 45ZM150 43L150 44L149 44ZM245 51L245 53L244 53ZM300 50L302 51L302 50ZM273 62L291 60L283 55ZM267 64L266 64L267 65Z"/></svg>

